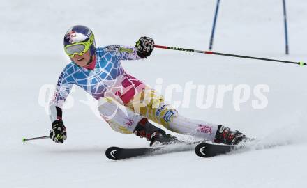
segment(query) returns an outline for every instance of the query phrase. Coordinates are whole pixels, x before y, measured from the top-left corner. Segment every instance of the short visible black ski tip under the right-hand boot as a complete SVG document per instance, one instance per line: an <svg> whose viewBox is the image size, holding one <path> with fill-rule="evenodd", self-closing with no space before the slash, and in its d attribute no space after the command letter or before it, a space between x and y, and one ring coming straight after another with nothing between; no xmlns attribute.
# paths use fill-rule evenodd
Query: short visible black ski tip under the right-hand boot
<svg viewBox="0 0 307 188"><path fill-rule="evenodd" d="M199 143L195 147L195 153L199 157L214 157L216 155L226 154L232 150L237 150L238 148L241 147L235 145Z"/></svg>

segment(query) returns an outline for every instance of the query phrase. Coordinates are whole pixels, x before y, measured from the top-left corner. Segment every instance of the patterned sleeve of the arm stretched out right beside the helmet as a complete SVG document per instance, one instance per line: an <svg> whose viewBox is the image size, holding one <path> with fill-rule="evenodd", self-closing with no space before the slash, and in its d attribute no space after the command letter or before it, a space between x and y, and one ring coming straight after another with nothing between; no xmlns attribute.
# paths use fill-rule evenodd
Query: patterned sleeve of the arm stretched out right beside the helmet
<svg viewBox="0 0 307 188"><path fill-rule="evenodd" d="M105 47L105 52L113 52L121 60L142 59L137 55L136 47L126 45L109 45Z"/></svg>

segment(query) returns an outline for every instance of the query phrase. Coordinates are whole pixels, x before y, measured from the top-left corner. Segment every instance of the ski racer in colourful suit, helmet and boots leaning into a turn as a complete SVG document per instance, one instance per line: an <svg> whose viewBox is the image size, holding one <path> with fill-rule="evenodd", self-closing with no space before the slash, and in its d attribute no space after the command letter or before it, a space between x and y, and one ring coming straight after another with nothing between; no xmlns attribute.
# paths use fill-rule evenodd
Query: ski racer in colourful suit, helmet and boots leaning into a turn
<svg viewBox="0 0 307 188"><path fill-rule="evenodd" d="M63 143L67 138L62 107L73 85L98 100L98 111L113 130L145 137L150 141L150 146L179 140L149 120L172 132L193 135L214 143L238 144L247 139L244 134L229 127L181 116L176 109L165 104L162 95L123 69L121 60L139 60L151 55L154 48L152 38L141 37L135 47L96 47L91 29L76 25L66 32L63 45L71 62L61 72L50 102L52 141Z"/></svg>

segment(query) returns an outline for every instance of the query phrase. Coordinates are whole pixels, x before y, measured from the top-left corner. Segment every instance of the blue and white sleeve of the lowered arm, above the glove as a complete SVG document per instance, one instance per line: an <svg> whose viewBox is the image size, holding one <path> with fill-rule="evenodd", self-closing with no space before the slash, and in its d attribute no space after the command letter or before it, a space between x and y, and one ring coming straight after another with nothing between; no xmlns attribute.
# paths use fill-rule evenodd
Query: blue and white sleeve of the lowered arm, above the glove
<svg viewBox="0 0 307 188"><path fill-rule="evenodd" d="M63 72L59 76L57 85L55 87L54 96L50 101L50 120L58 120L62 118L62 107L66 98L68 97L71 88L73 87L73 81L70 81L68 68L64 68Z"/></svg>

